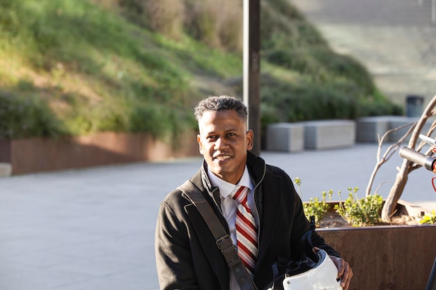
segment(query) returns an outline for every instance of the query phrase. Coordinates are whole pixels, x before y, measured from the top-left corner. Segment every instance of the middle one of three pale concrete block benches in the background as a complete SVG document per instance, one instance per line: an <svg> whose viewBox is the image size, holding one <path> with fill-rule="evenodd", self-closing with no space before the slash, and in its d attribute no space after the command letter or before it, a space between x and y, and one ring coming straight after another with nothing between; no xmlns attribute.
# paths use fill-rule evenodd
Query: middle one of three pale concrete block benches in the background
<svg viewBox="0 0 436 290"><path fill-rule="evenodd" d="M356 143L356 122L353 120L319 120L304 124L304 148L332 149Z"/></svg>

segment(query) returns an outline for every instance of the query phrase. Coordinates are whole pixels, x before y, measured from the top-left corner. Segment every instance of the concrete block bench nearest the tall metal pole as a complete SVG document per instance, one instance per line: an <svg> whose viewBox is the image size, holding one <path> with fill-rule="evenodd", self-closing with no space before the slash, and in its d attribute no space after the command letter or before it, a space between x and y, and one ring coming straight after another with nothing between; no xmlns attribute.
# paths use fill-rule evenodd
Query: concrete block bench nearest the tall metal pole
<svg viewBox="0 0 436 290"><path fill-rule="evenodd" d="M274 123L267 126L266 150L298 152L304 149L301 123Z"/></svg>

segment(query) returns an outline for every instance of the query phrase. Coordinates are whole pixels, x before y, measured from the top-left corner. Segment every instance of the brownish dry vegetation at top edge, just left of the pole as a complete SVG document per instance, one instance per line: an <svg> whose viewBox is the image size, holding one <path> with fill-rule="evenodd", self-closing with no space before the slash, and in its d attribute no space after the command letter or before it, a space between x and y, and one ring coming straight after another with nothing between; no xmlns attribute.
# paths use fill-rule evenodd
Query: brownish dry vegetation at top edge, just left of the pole
<svg viewBox="0 0 436 290"><path fill-rule="evenodd" d="M214 48L242 51L242 0L91 0L105 8L114 1L137 22L178 40L184 33Z"/></svg>

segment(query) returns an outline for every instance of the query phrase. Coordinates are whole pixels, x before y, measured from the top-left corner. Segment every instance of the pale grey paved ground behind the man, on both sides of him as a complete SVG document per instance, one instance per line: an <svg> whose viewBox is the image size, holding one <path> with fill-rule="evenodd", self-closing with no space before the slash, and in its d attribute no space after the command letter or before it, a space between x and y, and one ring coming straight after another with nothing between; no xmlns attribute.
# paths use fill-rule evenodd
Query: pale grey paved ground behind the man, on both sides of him
<svg viewBox="0 0 436 290"><path fill-rule="evenodd" d="M300 153L263 152L263 158L302 179L304 200L358 186L375 165L375 145ZM386 196L394 155L375 187ZM136 163L0 178L1 290L158 289L154 229L159 202L189 178L201 159ZM410 176L403 199L436 207L431 172Z"/></svg>

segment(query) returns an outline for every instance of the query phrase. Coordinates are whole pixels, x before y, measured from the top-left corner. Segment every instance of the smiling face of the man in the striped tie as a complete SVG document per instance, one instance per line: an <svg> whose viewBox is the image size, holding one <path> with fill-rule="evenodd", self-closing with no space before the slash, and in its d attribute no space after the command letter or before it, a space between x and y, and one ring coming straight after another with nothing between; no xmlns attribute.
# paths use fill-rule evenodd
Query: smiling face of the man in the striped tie
<svg viewBox="0 0 436 290"><path fill-rule="evenodd" d="M233 110L206 111L198 121L200 153L217 177L237 184L247 163L247 150L253 148L253 131L247 131Z"/></svg>

